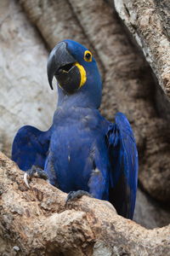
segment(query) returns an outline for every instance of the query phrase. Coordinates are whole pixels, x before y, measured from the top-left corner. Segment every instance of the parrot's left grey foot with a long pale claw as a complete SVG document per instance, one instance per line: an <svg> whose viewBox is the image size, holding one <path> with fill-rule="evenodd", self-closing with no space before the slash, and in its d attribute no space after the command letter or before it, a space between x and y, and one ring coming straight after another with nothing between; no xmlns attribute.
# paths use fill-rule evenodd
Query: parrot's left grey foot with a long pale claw
<svg viewBox="0 0 170 256"><path fill-rule="evenodd" d="M30 185L28 183L28 179L31 180L31 177L41 177L43 179L48 179L48 175L38 166L31 166L31 169L28 169L24 174L24 182L26 186L30 189Z"/></svg>

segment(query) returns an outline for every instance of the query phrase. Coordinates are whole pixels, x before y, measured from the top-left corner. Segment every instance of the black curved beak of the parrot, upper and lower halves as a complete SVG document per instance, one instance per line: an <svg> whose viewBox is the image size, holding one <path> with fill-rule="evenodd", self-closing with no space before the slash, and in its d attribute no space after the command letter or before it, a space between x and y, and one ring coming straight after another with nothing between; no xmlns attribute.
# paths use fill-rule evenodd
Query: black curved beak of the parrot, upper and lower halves
<svg viewBox="0 0 170 256"><path fill-rule="evenodd" d="M81 75L74 65L77 61L66 49L67 44L57 44L48 57L48 82L53 90L53 78L58 80L59 85L68 93L72 93L79 87Z"/></svg>

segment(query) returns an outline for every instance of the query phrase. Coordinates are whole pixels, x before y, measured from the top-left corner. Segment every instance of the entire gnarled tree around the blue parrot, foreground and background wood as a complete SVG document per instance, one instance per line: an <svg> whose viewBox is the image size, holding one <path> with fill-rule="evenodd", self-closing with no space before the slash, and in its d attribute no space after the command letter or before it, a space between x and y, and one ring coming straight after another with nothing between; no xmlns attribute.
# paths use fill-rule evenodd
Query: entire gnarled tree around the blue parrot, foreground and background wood
<svg viewBox="0 0 170 256"><path fill-rule="evenodd" d="M9 155L22 125L48 129L56 105L46 75L48 50L65 38L77 40L99 63L101 113L110 120L116 111L126 113L133 126L142 189L134 219L161 227L170 221L168 5L115 0L115 6L111 0L1 1L0 147ZM26 189L23 172L3 154L0 163L3 256L170 255L169 225L146 230L88 197L65 208L59 189L38 178Z"/></svg>

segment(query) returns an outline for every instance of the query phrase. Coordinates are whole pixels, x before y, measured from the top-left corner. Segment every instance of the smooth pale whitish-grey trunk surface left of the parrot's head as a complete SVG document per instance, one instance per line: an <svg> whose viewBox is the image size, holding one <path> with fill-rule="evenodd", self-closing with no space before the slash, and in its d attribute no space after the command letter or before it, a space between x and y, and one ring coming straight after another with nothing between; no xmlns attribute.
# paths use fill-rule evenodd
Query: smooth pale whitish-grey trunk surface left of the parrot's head
<svg viewBox="0 0 170 256"><path fill-rule="evenodd" d="M0 148L9 155L20 126L48 129L56 96L48 88L48 50L20 5L2 0L0 17Z"/></svg>

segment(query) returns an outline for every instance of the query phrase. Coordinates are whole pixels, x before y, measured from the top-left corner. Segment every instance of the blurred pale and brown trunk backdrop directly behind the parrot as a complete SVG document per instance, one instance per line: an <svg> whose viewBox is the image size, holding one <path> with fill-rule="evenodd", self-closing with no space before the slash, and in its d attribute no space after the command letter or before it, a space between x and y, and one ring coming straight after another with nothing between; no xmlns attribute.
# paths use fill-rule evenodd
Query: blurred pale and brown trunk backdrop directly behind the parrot
<svg viewBox="0 0 170 256"><path fill-rule="evenodd" d="M50 49L70 38L86 45L103 79L101 113L126 113L139 148L134 220L146 228L170 222L170 104L112 1L1 0L0 150L10 157L22 125L52 123L57 90L48 86Z"/></svg>

